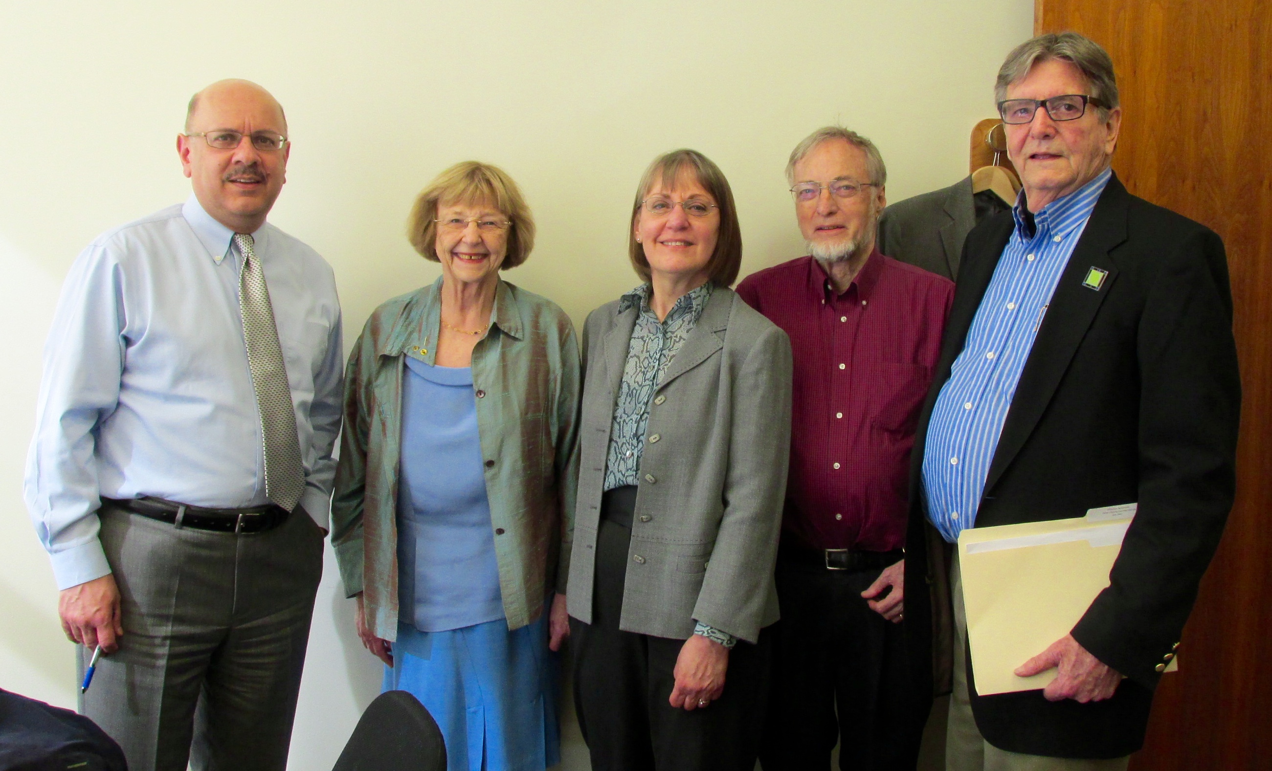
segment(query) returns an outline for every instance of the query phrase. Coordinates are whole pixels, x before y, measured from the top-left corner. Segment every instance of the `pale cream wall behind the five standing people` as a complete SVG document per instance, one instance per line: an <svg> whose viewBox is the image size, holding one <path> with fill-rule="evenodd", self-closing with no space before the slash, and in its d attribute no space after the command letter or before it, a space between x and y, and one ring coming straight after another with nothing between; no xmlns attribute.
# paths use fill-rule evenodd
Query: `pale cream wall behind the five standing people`
<svg viewBox="0 0 1272 771"><path fill-rule="evenodd" d="M522 184L538 248L508 277L581 323L636 282L626 223L655 154L691 146L725 170L745 275L801 253L782 169L818 126L874 139L893 201L962 178L997 65L1032 24L1032 0L0 0L0 687L74 704L20 491L39 349L75 254L188 195L174 139L202 85L248 78L285 106L294 148L271 220L335 267L351 341L378 303L436 276L403 221L450 163ZM378 691L329 559L326 576L293 768L331 767ZM586 767L576 739L566 751Z"/></svg>

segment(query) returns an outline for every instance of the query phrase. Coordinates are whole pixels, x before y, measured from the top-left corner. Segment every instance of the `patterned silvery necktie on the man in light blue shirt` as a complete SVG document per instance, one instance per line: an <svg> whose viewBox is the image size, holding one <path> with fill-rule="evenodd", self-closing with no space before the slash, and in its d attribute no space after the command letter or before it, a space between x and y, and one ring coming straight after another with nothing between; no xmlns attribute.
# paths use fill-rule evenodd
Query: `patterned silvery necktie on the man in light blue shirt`
<svg viewBox="0 0 1272 771"><path fill-rule="evenodd" d="M291 406L287 366L282 361L279 330L273 324L270 289L265 271L252 248L248 233L235 233L234 243L243 254L239 271L239 316L243 318L243 340L247 342L247 365L252 370L252 389L261 415L261 436L265 440L265 494L287 511L296 508L305 489L305 472L300 464L300 441L296 439L296 413Z"/></svg>

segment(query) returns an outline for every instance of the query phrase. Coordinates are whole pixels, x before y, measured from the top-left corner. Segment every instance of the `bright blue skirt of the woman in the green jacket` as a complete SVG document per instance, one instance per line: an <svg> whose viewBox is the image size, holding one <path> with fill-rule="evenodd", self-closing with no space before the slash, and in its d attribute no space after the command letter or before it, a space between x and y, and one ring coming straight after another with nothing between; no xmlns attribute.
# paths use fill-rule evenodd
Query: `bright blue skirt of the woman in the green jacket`
<svg viewBox="0 0 1272 771"><path fill-rule="evenodd" d="M448 771L543 771L561 761L557 655L548 613L508 631L502 618L444 632L398 625L384 691L410 691L438 721Z"/></svg>

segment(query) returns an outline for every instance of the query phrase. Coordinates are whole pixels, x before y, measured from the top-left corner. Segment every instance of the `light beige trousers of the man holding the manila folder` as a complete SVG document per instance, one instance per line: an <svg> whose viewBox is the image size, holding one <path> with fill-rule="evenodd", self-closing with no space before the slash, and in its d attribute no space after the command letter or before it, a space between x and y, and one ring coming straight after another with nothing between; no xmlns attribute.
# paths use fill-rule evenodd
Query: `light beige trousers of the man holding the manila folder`
<svg viewBox="0 0 1272 771"><path fill-rule="evenodd" d="M954 693L945 729L945 771L1126 771L1130 756L1105 761L1021 754L985 740L976 726L967 691L967 609L957 551L950 564L950 593L954 595Z"/></svg>

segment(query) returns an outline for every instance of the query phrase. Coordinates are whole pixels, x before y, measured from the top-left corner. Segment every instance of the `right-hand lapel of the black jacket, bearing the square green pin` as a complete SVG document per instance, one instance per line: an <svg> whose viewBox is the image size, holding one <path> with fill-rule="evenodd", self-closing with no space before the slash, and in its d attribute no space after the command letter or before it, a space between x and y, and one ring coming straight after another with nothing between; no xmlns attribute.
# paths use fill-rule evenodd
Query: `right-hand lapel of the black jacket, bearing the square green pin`
<svg viewBox="0 0 1272 771"><path fill-rule="evenodd" d="M1109 252L1126 240L1127 204L1126 188L1117 177L1110 178L1060 276L1029 359L1020 373L1007 420L999 436L999 447L990 463L986 492L993 489L1038 425L1095 313L1117 281L1117 263ZM1084 285L1093 267L1105 271L1098 289Z"/></svg>

